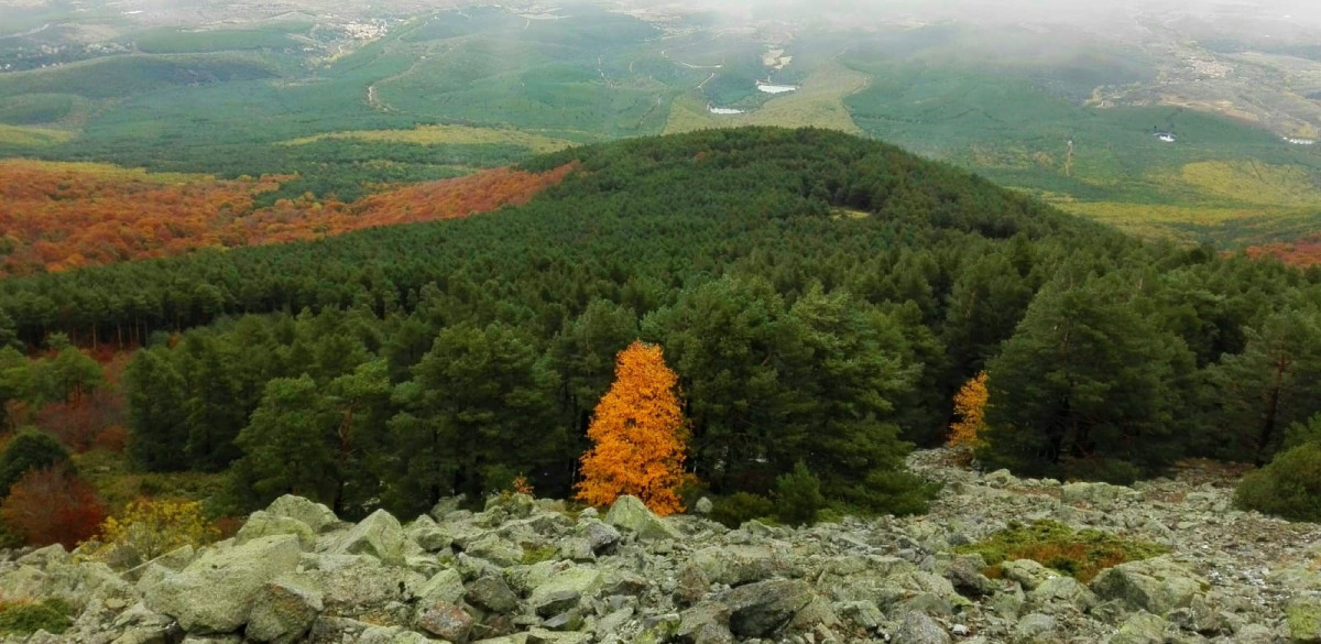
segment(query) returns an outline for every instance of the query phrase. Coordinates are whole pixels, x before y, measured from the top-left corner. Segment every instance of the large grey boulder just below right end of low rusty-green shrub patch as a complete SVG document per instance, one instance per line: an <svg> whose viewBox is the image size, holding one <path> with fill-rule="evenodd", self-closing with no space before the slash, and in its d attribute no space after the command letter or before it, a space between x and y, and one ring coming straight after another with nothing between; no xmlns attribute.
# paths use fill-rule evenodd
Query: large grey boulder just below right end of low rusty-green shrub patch
<svg viewBox="0 0 1321 644"><path fill-rule="evenodd" d="M1091 590L1102 599L1160 616L1189 607L1203 587L1209 587L1205 579L1169 557L1120 564L1091 582Z"/></svg>

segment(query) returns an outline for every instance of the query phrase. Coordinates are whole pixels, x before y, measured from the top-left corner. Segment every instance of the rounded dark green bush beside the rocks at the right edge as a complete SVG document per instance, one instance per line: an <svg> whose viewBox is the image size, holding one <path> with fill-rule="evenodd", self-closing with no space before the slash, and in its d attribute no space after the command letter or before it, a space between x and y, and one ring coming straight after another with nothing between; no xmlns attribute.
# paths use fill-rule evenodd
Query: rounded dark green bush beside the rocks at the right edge
<svg viewBox="0 0 1321 644"><path fill-rule="evenodd" d="M1248 472L1234 501L1293 521L1321 521L1321 443L1281 451L1266 467Z"/></svg>

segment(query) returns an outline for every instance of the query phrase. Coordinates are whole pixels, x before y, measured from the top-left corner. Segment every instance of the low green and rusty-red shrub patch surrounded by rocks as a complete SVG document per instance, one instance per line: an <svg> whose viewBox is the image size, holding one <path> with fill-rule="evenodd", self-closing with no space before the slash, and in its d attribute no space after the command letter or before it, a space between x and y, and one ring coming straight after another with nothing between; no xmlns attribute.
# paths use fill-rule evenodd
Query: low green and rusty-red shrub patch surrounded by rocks
<svg viewBox="0 0 1321 644"><path fill-rule="evenodd" d="M1032 560L1087 583L1102 570L1156 557L1168 548L1145 541L1131 541L1094 529L1074 532L1058 521L1036 521L1032 525L1011 523L989 537L956 549L963 554L980 554L987 562L987 577L1000 577L1007 561Z"/></svg>

